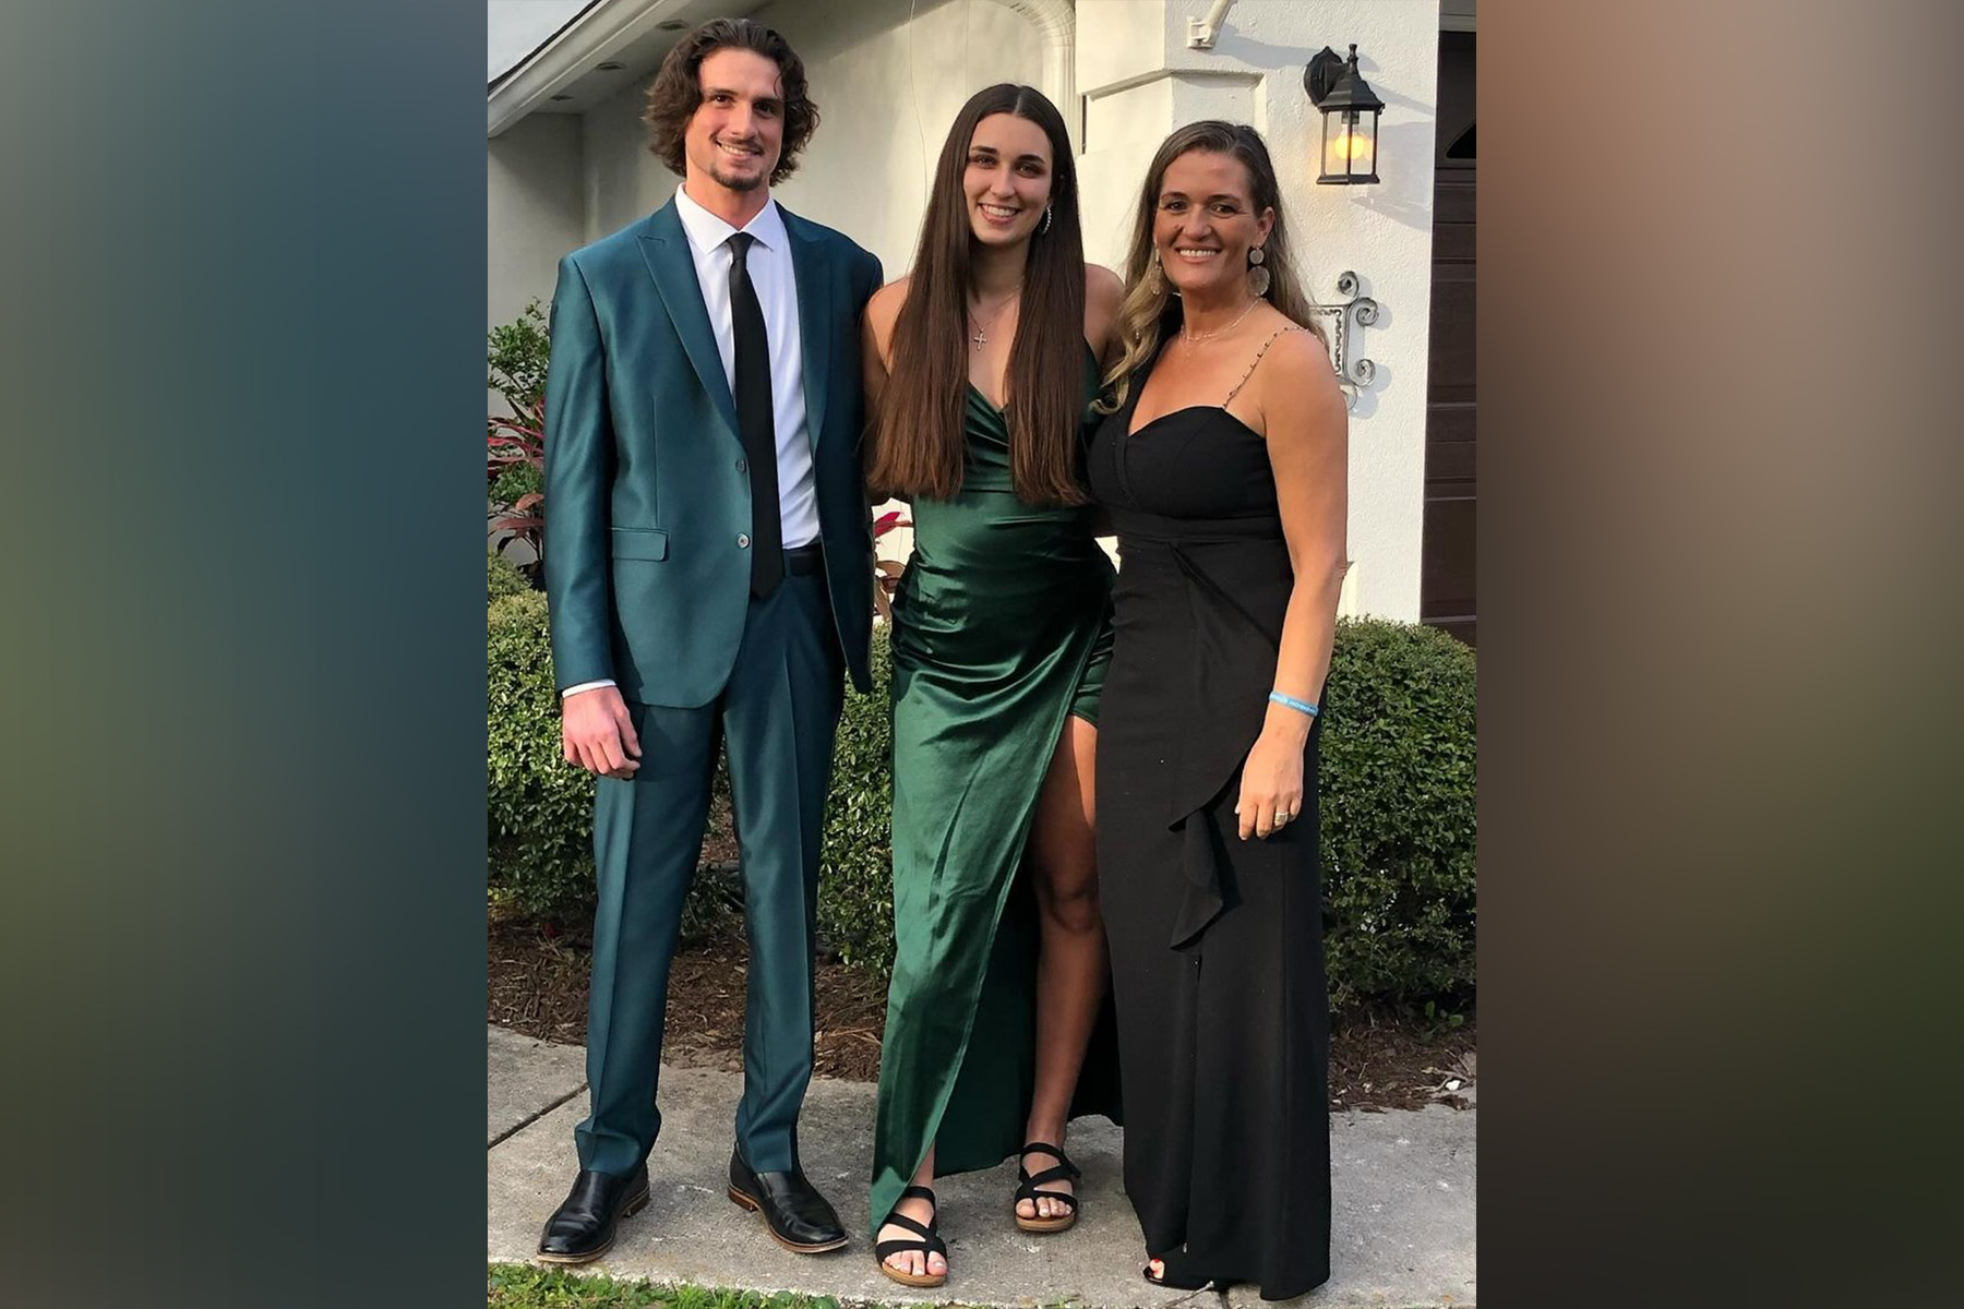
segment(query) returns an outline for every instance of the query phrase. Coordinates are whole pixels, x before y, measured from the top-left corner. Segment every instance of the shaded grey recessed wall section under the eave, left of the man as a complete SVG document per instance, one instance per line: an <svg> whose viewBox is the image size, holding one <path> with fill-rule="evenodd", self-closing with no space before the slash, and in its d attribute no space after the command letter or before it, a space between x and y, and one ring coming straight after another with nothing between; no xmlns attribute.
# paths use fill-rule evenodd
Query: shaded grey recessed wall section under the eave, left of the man
<svg viewBox="0 0 1964 1309"><path fill-rule="evenodd" d="M532 114L489 139L489 326L532 296L552 300L560 255L585 243L579 159L579 120L566 114Z"/></svg>

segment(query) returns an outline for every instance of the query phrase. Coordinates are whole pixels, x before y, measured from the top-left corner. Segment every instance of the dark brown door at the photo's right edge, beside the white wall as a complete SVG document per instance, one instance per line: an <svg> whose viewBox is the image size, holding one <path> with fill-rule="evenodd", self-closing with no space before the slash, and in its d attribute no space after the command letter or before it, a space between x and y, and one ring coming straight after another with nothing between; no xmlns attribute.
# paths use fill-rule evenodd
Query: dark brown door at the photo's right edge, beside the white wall
<svg viewBox="0 0 1964 1309"><path fill-rule="evenodd" d="M1440 33L1432 188L1432 379L1426 391L1426 544L1418 616L1477 644L1473 510L1473 33Z"/></svg>

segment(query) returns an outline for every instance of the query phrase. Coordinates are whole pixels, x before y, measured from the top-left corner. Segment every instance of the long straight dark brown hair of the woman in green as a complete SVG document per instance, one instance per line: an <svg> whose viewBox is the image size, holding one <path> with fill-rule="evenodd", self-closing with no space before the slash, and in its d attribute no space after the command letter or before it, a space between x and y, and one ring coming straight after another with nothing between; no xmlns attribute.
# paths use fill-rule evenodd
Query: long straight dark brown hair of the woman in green
<svg viewBox="0 0 1964 1309"><path fill-rule="evenodd" d="M1078 171L1064 120L1041 90L1000 82L955 116L921 220L907 302L894 324L894 365L872 428L866 483L903 500L947 500L962 487L968 402L968 279L974 228L962 175L976 124L1015 114L1051 137L1049 232L1029 237L1006 418L1009 477L1031 504L1082 504L1076 477L1084 418L1084 236Z"/></svg>

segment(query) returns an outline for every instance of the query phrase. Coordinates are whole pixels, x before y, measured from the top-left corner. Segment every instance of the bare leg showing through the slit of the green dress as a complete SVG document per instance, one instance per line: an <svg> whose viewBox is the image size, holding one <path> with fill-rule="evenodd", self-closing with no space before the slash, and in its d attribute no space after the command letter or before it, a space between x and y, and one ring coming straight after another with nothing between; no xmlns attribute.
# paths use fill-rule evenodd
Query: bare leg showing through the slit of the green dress
<svg viewBox="0 0 1964 1309"><path fill-rule="evenodd" d="M1094 844L1096 797L1094 759L1098 728L1064 718L1064 730L1051 756L1037 797L1035 828L1029 836L1035 864L1039 956L1037 956L1037 1079L1023 1140L1064 1144L1070 1097L1084 1066L1084 1046L1106 989L1106 938L1098 915L1098 854ZM1033 1154L1029 1172L1043 1172L1057 1160ZM1045 1181L1045 1191L1070 1191L1068 1181ZM1057 1219L1070 1213L1063 1201L1017 1201L1025 1219Z"/></svg>

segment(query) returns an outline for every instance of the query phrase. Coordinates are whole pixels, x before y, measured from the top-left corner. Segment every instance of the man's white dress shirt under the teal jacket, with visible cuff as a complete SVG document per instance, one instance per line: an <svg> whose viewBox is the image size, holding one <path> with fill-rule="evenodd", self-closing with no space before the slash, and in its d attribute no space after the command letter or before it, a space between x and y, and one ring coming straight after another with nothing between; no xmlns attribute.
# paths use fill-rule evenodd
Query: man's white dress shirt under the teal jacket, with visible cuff
<svg viewBox="0 0 1964 1309"><path fill-rule="evenodd" d="M689 237L689 257L695 261L695 285L703 290L709 326L717 334L717 353L723 355L723 381L736 391L736 324L731 318L729 247L736 228L729 226L701 204L676 188L676 216ZM742 232L756 241L746 259L750 285L764 310L764 336L770 338L770 416L778 428L778 514L784 524L784 546L809 546L819 540L819 497L811 473L811 432L805 422L805 353L797 326L797 275L791 269L791 236L784 230L784 214L776 200L764 200ZM585 681L560 695L577 695L613 681Z"/></svg>

